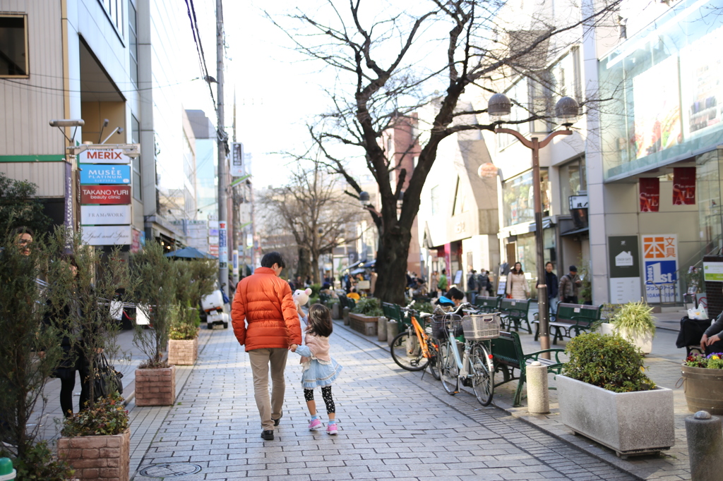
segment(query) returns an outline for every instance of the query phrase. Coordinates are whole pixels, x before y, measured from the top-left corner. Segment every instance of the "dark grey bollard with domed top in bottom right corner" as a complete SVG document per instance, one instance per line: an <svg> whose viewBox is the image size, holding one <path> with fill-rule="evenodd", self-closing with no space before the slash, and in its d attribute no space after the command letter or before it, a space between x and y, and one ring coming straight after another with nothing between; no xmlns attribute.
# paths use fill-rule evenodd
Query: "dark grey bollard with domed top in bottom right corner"
<svg viewBox="0 0 723 481"><path fill-rule="evenodd" d="M685 418L685 437L688 438L688 459L693 481L721 479L723 464L723 433L721 418L707 411L698 411Z"/></svg>

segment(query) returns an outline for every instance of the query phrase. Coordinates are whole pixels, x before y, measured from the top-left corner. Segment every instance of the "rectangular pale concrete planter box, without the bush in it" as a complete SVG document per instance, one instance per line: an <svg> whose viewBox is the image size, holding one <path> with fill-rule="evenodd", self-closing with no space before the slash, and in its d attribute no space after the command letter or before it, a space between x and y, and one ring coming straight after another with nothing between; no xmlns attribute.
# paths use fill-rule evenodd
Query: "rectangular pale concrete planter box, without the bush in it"
<svg viewBox="0 0 723 481"><path fill-rule="evenodd" d="M574 434L607 446L623 459L675 445L670 389L616 393L567 376L556 379L560 419Z"/></svg>

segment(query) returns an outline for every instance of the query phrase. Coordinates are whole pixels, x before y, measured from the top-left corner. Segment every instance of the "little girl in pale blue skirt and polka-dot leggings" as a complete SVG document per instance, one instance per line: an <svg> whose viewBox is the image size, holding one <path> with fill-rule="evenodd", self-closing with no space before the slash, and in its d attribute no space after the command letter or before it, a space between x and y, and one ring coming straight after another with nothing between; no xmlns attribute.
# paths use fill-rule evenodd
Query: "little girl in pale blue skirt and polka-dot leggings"
<svg viewBox="0 0 723 481"><path fill-rule="evenodd" d="M307 322L307 328L304 331L304 345L293 344L289 350L301 356L301 365L304 366L304 371L301 373L301 386L304 388L304 400L307 402L311 416L309 430L315 431L323 427L317 415L314 400L314 389L320 387L322 399L326 404L326 414L329 418L326 432L335 435L338 433L338 428L331 384L341 373L341 365L329 354L329 336L333 332L331 311L326 306L314 304L309 308Z"/></svg>

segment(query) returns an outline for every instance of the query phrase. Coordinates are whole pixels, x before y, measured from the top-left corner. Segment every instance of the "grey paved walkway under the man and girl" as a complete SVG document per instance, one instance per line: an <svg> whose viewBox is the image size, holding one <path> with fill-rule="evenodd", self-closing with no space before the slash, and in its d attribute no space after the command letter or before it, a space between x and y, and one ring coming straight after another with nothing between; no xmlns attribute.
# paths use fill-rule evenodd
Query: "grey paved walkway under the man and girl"
<svg viewBox="0 0 723 481"><path fill-rule="evenodd" d="M635 479L507 412L482 408L474 397L448 396L342 326L332 341L344 366L333 390L338 436L307 430L301 368L290 353L281 426L275 441L262 441L247 355L231 330L209 334L178 404L142 460L141 468L171 462L202 467L168 480ZM147 409L156 408L132 412Z"/></svg>

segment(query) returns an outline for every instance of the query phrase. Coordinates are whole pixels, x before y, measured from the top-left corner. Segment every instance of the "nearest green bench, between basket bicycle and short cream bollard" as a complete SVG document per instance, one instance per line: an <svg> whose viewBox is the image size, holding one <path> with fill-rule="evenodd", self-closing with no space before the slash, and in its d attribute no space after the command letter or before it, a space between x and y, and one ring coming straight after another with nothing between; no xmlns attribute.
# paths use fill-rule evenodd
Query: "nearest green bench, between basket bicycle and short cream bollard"
<svg viewBox="0 0 723 481"><path fill-rule="evenodd" d="M541 358L540 355L543 352L554 352L555 359ZM500 332L500 337L492 339L492 362L495 364L495 373L501 372L503 376L503 380L495 383L495 387L518 379L513 407L520 406L522 401L522 386L527 379L527 365L534 361L539 361L542 365L547 366L547 371L560 374L562 366L565 365L565 363L560 360L560 352L565 352L565 350L545 349L525 354L522 352L519 334L516 332ZM519 376L515 377L515 369L519 371Z"/></svg>

